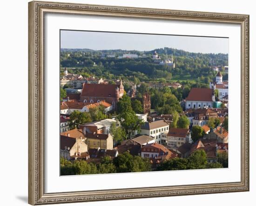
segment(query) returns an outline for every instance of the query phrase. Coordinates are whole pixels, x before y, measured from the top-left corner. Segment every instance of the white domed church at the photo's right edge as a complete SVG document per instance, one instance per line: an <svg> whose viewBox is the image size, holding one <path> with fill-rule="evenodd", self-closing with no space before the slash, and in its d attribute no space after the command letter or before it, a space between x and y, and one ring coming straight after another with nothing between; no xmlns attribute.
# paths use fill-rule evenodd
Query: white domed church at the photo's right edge
<svg viewBox="0 0 256 206"><path fill-rule="evenodd" d="M217 89L219 91L220 100L229 95L229 82L222 80L221 72L217 73L215 82L210 82L210 88Z"/></svg>

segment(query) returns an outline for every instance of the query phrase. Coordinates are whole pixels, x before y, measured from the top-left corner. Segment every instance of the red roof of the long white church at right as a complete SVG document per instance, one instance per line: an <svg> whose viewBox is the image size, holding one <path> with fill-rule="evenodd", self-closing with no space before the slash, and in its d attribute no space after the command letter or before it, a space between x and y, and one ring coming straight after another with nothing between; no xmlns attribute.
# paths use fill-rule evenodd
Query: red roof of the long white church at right
<svg viewBox="0 0 256 206"><path fill-rule="evenodd" d="M187 101L212 101L213 89L191 88Z"/></svg>

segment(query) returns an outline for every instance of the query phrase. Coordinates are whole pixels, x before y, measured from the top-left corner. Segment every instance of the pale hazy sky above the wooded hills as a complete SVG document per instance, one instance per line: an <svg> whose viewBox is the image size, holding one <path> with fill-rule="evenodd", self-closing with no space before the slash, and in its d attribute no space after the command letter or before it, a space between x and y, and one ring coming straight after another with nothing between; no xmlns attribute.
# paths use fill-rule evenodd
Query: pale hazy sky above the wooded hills
<svg viewBox="0 0 256 206"><path fill-rule="evenodd" d="M163 47L196 53L229 53L229 39L159 34L61 31L61 48L149 51Z"/></svg>

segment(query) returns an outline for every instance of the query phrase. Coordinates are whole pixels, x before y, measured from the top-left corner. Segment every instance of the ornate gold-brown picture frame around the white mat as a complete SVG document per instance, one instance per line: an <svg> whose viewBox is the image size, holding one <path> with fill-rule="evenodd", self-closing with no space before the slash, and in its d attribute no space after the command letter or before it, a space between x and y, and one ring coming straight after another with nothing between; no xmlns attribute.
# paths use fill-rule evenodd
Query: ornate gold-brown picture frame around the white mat
<svg viewBox="0 0 256 206"><path fill-rule="evenodd" d="M249 191L249 15L32 1L29 8L28 202L31 205ZM117 190L44 191L44 14L220 22L241 26L241 181Z"/></svg>

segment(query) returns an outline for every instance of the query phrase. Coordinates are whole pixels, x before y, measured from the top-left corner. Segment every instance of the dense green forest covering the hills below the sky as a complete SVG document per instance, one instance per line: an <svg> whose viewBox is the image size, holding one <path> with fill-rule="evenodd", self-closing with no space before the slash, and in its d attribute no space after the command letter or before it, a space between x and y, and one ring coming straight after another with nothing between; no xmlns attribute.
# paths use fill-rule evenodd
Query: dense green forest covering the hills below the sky
<svg viewBox="0 0 256 206"><path fill-rule="evenodd" d="M171 59L174 56L175 68L167 65L159 65L152 59L156 51L161 59ZM102 53L115 53L116 58L102 59ZM124 53L138 55L146 54L147 58L118 59L117 56ZM91 49L61 49L61 68L69 69L70 73L81 73L83 76L97 76L108 80L123 79L136 81L171 81L190 80L195 82L212 80L216 72L213 66L228 66L228 54L223 53L190 53L172 48L160 48L152 51L126 51L126 50L100 50ZM201 79L200 79L201 78ZM207 80L204 80L207 78ZM227 79L224 74L223 79ZM203 80L202 80L203 79Z"/></svg>

